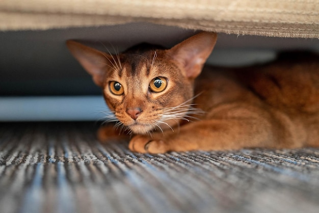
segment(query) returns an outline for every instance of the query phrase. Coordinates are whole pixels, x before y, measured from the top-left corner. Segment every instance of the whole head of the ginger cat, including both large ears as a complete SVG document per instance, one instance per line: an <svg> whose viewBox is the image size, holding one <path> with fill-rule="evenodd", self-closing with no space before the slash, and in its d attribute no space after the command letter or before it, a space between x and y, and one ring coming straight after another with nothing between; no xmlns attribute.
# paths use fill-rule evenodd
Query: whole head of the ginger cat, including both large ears
<svg viewBox="0 0 319 213"><path fill-rule="evenodd" d="M194 79L216 39L216 33L202 32L170 49L144 44L117 55L75 41L67 46L102 88L115 120L135 134L148 134L192 113Z"/></svg>

